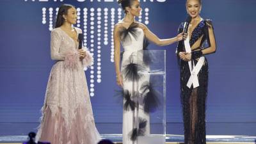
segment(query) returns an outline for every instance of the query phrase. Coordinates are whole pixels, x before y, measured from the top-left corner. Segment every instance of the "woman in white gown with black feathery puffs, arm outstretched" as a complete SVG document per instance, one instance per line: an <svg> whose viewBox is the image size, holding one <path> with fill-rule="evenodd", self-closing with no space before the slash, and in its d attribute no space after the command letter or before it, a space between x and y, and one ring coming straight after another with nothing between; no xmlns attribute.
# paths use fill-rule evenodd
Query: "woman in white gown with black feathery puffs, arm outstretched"
<svg viewBox="0 0 256 144"><path fill-rule="evenodd" d="M147 58L145 58L144 52L139 51L146 49L147 39L156 45L169 45L182 40L182 33L175 38L159 39L147 26L134 20L141 11L138 0L119 0L118 3L122 6L125 17L115 25L113 34L116 83L122 86L124 96L123 143L132 144L136 143L137 136L150 134L149 113L154 106L157 106L157 98L153 98L154 90L150 86L150 77L139 76L137 73L138 70L148 69ZM124 47L124 53L120 67L121 44ZM139 106L136 106L135 97L143 99L139 100L142 101L139 102ZM136 123L136 118L138 118L139 124ZM139 125L138 129L137 125Z"/></svg>

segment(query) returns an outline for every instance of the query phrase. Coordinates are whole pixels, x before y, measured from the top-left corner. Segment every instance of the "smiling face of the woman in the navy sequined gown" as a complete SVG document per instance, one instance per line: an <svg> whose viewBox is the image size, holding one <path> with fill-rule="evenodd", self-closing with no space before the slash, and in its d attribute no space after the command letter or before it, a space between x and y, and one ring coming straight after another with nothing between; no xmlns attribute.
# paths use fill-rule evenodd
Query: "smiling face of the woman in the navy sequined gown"
<svg viewBox="0 0 256 144"><path fill-rule="evenodd" d="M201 3L198 0L188 0L186 3L186 8L188 14L195 18L200 14L201 11Z"/></svg>

